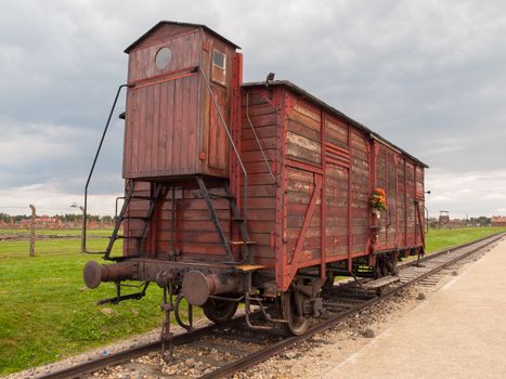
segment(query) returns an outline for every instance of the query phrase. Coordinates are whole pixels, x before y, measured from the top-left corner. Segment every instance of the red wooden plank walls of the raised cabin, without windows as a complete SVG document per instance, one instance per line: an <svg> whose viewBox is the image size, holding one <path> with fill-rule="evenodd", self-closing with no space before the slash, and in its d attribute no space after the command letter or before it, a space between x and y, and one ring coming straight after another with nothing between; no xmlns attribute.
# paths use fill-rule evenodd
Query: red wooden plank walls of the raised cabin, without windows
<svg viewBox="0 0 506 379"><path fill-rule="evenodd" d="M179 35L176 35L180 31ZM164 39L164 37L166 39ZM124 178L153 179L193 173L228 178L229 142L199 73L206 73L225 123L230 123L235 49L199 28L163 26L129 54ZM166 68L155 64L157 51L169 48ZM210 76L213 49L225 54L225 81Z"/></svg>

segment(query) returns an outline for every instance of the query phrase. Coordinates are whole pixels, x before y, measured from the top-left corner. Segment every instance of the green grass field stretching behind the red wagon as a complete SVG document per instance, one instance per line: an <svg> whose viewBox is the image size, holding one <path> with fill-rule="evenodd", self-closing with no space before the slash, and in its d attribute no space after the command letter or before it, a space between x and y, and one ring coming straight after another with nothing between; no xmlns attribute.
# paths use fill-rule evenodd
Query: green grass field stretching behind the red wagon
<svg viewBox="0 0 506 379"><path fill-rule="evenodd" d="M430 231L427 250L484 237L504 228ZM20 231L15 231L20 232ZM65 236L79 230L38 231ZM95 236L111 231L92 231ZM90 250L104 250L106 238L90 238ZM141 301L96 306L96 300L115 295L112 284L89 290L82 267L91 257L79 252L80 240L40 239L36 257L28 257L28 241L0 241L0 375L62 360L158 327L160 289L152 286ZM116 253L121 241L115 246Z"/></svg>

